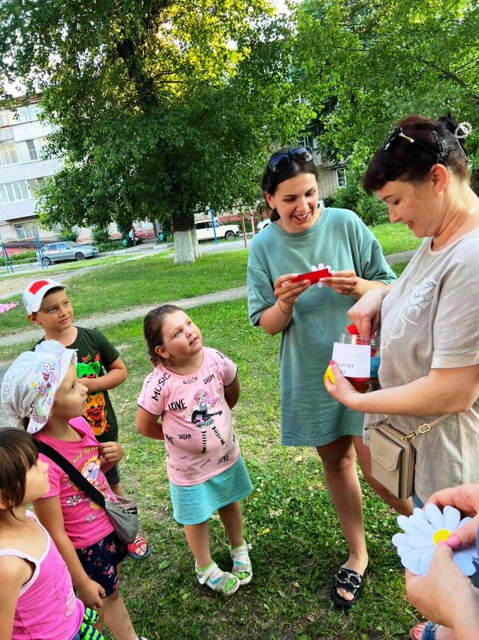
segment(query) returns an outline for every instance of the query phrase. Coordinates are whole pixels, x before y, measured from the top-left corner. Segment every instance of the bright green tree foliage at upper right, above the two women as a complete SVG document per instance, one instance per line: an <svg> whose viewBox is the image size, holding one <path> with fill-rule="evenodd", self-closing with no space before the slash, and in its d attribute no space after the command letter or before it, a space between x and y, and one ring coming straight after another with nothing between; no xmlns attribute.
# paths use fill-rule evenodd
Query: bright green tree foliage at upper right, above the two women
<svg viewBox="0 0 479 640"><path fill-rule="evenodd" d="M472 0L304 0L296 12L295 81L316 110L330 156L366 158L407 113L447 111L475 132L479 167L479 6Z"/></svg>

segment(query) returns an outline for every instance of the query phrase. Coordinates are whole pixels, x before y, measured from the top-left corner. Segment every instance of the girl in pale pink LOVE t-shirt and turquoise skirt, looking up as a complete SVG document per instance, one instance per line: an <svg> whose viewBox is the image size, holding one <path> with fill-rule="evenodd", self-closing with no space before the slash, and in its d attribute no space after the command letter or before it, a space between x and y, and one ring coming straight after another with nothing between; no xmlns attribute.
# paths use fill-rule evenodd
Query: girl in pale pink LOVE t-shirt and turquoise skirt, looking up
<svg viewBox="0 0 479 640"><path fill-rule="evenodd" d="M240 506L253 486L231 421L240 396L237 367L204 347L199 328L174 305L150 311L143 332L155 367L138 398L136 429L165 440L173 515L184 525L200 584L231 595L253 575ZM208 521L215 511L229 539L231 573L211 559Z"/></svg>

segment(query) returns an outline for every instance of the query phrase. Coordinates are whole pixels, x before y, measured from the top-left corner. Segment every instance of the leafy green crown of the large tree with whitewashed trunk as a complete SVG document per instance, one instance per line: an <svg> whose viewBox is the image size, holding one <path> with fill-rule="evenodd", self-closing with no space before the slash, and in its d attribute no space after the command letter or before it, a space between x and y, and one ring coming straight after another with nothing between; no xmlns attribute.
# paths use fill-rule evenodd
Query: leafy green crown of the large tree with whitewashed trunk
<svg viewBox="0 0 479 640"><path fill-rule="evenodd" d="M254 202L271 141L313 113L285 77L289 28L270 14L266 0L5 0L0 73L41 76L64 160L40 188L41 220L169 216L188 230L197 208Z"/></svg>

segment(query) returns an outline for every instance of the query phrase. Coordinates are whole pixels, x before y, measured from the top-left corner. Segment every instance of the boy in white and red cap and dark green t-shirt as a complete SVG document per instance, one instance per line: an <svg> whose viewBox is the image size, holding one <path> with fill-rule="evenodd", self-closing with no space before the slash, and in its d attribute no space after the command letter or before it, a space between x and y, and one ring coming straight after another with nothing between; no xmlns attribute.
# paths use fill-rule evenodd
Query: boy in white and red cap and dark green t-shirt
<svg viewBox="0 0 479 640"><path fill-rule="evenodd" d="M73 308L65 289L65 285L49 278L31 282L22 296L27 317L44 330L42 340L58 340L68 349L76 349L77 375L88 388L83 417L99 442L117 441L117 417L108 390L126 380L126 367L117 349L101 332L74 326ZM108 457L108 450L105 448L101 454ZM105 476L113 492L123 496L118 465L106 472ZM128 547L133 557L146 557L149 554L148 545L140 536Z"/></svg>

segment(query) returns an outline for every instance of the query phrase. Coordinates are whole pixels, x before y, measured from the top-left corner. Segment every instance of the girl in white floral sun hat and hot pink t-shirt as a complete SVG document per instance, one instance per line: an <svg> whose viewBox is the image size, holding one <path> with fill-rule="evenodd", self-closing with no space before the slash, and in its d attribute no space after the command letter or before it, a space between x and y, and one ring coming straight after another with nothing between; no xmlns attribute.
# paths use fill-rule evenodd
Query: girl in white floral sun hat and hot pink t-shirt
<svg viewBox="0 0 479 640"><path fill-rule="evenodd" d="M10 365L2 403L38 442L53 447L114 501L104 472L122 458L123 449L118 442L99 444L86 420L77 417L85 413L87 392L77 378L76 351L45 340ZM78 598L99 612L99 630L105 624L115 640L139 640L118 590L126 545L105 509L88 499L53 461L42 454L40 460L48 463L49 487L33 506L69 568Z"/></svg>

